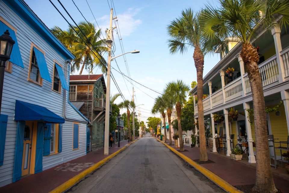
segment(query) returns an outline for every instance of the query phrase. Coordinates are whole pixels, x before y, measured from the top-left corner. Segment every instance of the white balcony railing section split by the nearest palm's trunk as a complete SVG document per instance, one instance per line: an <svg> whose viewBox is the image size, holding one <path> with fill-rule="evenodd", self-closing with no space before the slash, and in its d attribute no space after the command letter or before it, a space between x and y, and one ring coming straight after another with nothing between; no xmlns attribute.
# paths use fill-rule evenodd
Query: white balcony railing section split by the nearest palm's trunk
<svg viewBox="0 0 289 193"><path fill-rule="evenodd" d="M276 55L272 56L271 58L260 64L259 70L262 78L263 87L267 86L268 84L272 84L273 82L277 82L279 71ZM249 93L251 92L249 76L246 73L243 75L243 77L246 93Z"/></svg>

